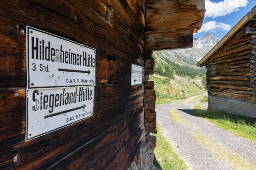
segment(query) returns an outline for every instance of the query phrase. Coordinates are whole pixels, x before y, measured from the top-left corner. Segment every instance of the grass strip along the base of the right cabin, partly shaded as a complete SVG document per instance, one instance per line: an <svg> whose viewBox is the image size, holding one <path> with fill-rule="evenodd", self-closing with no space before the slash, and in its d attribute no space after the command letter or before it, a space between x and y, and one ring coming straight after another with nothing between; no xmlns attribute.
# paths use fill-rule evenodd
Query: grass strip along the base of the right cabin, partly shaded
<svg viewBox="0 0 256 170"><path fill-rule="evenodd" d="M219 128L256 143L256 119L220 111L206 111L205 108L200 107L201 103L205 101L207 101L206 97L194 105L192 112L195 115L207 119Z"/></svg>

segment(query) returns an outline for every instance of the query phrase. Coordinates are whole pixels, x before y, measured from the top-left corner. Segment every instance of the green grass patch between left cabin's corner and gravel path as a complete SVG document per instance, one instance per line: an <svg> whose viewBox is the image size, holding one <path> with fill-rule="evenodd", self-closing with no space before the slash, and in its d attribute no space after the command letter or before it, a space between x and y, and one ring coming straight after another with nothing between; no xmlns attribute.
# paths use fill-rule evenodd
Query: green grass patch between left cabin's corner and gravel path
<svg viewBox="0 0 256 170"><path fill-rule="evenodd" d="M157 127L159 127L158 123ZM175 153L172 145L170 145L164 137L163 131L160 128L157 130L157 143L154 150L155 158L153 160L154 165L159 168L159 170L187 170L184 161Z"/></svg>

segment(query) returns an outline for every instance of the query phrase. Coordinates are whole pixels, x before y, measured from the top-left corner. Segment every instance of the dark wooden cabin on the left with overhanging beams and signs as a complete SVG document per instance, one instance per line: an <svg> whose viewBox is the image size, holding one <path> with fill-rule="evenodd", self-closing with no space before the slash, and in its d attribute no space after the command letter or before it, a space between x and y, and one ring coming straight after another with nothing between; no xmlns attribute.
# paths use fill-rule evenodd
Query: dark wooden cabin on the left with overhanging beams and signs
<svg viewBox="0 0 256 170"><path fill-rule="evenodd" d="M126 170L133 160L136 166L142 166L138 163L140 149L156 146L156 137L152 135L156 133L156 96L154 82L148 82L148 75L154 74L152 50L192 47L193 32L200 29L204 14L204 0L1 0L0 169ZM43 42L32 35L49 37L54 43L64 42L67 56L63 46L51 48L50 53L50 40L44 42L48 49L44 46L45 50L38 50L44 49ZM81 67L82 60L69 52L73 49L92 52L89 63L96 65L94 71L75 70ZM84 73L86 81L66 82L63 75L48 74L51 69L48 71L47 65L39 67L36 62L29 62L32 59L50 63L51 69L57 65L72 67L73 70L59 71L65 76L72 72L69 75L74 77ZM142 69L136 72L141 74L142 83L132 85L131 64ZM38 74L32 72L38 69ZM96 78L87 80L89 74ZM42 112L28 116L31 109L36 112L38 108L47 108L48 102L50 107L50 101L55 101L55 108L59 108L59 95L51 100L51 92L62 89L64 95L65 89L83 91L81 86L94 90L86 95L90 102L76 108L65 106L67 110L58 114L49 115L47 111L47 115ZM42 97L40 90L48 92L49 97ZM70 93L74 96L72 104L76 101L75 92ZM40 94L43 99L36 99ZM41 104L39 99L43 100ZM29 105L31 101L33 107ZM92 108L90 112L82 114L90 114L86 118L73 121L73 116L67 117L69 112L75 114L88 107ZM66 120L65 116L72 123L57 126ZM46 121L41 120L52 117L62 118L50 122L57 128L47 131L51 126L44 126ZM33 137L29 128L38 135Z"/></svg>

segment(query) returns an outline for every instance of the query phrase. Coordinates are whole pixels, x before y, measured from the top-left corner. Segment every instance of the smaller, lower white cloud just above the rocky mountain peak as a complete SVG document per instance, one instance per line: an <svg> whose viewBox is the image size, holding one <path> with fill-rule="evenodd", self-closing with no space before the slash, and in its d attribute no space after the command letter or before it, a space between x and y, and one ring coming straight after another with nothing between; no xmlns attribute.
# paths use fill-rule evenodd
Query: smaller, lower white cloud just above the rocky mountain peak
<svg viewBox="0 0 256 170"><path fill-rule="evenodd" d="M202 27L198 31L198 33L199 32L208 32L208 31L215 32L216 30L228 31L228 30L230 30L230 28L231 28L231 25L229 25L229 24L217 23L216 21L209 21L202 25Z"/></svg>

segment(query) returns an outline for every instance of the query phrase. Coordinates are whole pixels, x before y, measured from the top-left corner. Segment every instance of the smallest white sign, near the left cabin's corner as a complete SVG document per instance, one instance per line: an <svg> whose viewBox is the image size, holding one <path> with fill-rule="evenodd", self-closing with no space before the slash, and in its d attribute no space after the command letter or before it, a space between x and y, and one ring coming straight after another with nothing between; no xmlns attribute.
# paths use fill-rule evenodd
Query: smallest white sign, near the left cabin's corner
<svg viewBox="0 0 256 170"><path fill-rule="evenodd" d="M142 66L131 64L131 86L142 84Z"/></svg>

